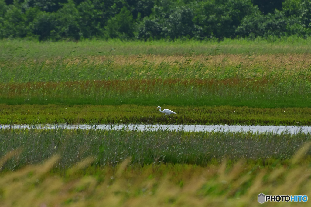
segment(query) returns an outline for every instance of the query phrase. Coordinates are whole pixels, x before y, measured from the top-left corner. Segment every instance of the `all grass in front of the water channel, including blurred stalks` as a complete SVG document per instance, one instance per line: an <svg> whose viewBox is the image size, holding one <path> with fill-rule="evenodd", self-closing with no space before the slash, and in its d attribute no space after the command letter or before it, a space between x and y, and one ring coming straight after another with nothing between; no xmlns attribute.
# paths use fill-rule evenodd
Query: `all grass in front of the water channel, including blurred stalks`
<svg viewBox="0 0 311 207"><path fill-rule="evenodd" d="M0 140L3 206L256 206L262 192L311 195L310 134L1 130Z"/></svg>

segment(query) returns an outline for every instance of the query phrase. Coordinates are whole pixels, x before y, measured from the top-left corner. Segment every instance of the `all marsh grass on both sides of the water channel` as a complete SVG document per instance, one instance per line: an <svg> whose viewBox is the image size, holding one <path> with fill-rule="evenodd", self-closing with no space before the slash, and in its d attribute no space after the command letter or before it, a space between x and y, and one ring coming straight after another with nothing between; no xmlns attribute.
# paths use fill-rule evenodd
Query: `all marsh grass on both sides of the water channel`
<svg viewBox="0 0 311 207"><path fill-rule="evenodd" d="M308 40L225 41L2 40L0 124L311 125ZM177 114L163 119L157 106ZM0 205L310 197L309 142L309 133L2 128Z"/></svg>

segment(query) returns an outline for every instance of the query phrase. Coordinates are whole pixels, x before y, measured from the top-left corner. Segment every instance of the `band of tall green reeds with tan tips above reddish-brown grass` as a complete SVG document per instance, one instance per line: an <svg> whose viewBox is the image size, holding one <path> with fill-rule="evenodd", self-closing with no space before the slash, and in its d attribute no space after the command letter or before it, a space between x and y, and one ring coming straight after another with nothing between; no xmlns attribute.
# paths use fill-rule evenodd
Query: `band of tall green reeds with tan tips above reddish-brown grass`
<svg viewBox="0 0 311 207"><path fill-rule="evenodd" d="M310 79L309 54L86 56L0 59L3 83L92 80ZM287 82L285 82L287 83Z"/></svg>

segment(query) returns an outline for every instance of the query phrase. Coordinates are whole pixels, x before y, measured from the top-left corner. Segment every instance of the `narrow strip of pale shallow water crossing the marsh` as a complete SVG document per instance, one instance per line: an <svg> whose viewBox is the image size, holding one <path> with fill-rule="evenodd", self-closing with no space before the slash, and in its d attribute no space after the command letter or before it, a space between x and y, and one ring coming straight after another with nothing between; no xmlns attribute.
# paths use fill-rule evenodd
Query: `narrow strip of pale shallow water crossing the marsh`
<svg viewBox="0 0 311 207"><path fill-rule="evenodd" d="M53 129L53 128L64 128L64 129L126 129L126 130L139 130L139 131L157 131L157 130L182 130L185 132L253 132L253 133L311 133L311 127L308 126L240 126L240 125L160 125L160 124L60 124L60 125L0 125L0 129L15 128L35 128L35 129Z"/></svg>

